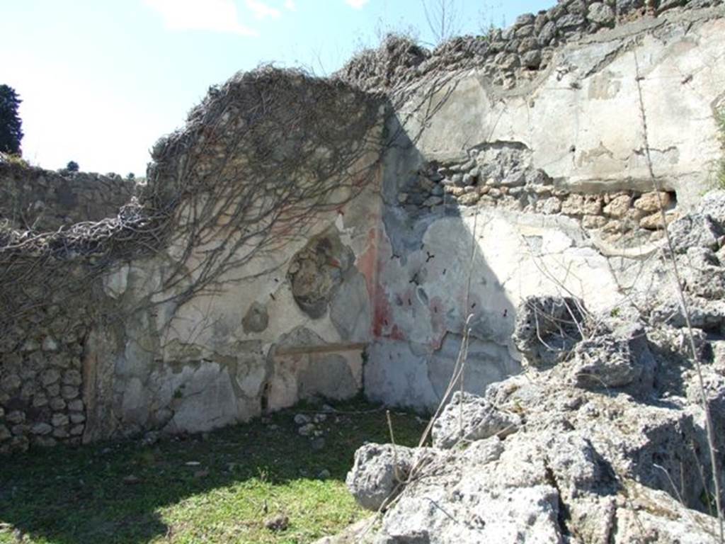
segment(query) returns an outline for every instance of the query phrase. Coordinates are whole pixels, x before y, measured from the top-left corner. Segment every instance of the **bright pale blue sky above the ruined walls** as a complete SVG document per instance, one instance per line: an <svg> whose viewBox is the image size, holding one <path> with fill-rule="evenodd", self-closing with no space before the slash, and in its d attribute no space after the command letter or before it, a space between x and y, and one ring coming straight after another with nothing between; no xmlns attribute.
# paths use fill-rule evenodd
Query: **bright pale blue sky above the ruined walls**
<svg viewBox="0 0 725 544"><path fill-rule="evenodd" d="M480 33L555 0L455 4ZM260 62L330 73L387 30L434 41L421 0L0 0L0 83L23 100L30 162L138 176L210 85Z"/></svg>

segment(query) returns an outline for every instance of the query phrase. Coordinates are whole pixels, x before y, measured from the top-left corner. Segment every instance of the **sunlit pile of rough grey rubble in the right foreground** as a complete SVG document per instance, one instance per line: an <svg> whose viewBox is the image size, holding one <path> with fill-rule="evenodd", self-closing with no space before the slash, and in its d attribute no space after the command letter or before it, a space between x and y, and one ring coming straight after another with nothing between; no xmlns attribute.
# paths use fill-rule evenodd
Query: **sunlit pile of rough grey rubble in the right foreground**
<svg viewBox="0 0 725 544"><path fill-rule="evenodd" d="M725 192L668 226L705 400L725 423ZM455 393L431 448L368 444L347 485L381 511L371 543L706 543L717 520L703 390L676 294L622 316L531 297L513 341L526 373ZM624 317L626 314L626 317ZM719 466L723 438L717 437ZM719 477L718 470L718 477Z"/></svg>

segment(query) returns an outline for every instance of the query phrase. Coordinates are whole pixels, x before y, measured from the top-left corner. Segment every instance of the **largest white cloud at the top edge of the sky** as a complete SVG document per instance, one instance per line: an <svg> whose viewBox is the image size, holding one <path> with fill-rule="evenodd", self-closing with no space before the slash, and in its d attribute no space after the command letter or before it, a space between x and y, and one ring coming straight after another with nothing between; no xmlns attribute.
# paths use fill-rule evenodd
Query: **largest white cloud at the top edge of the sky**
<svg viewBox="0 0 725 544"><path fill-rule="evenodd" d="M257 36L253 28L239 22L233 0L144 0L156 10L171 30L211 30L242 36Z"/></svg>

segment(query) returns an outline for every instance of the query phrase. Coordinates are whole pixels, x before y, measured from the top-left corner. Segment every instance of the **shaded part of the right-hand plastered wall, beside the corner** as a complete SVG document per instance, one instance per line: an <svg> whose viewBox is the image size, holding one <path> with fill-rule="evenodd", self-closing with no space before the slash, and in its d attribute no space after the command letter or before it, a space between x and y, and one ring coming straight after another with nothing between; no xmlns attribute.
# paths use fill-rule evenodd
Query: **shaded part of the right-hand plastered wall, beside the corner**
<svg viewBox="0 0 725 544"><path fill-rule="evenodd" d="M365 392L373 400L426 411L450 382L468 316L465 390L481 394L521 366L508 348L514 305L479 246L491 219L479 207L462 207L443 184L431 184L431 177L441 176L430 171L436 163L426 163L403 124L396 117L388 125L396 141L384 162L375 339ZM423 194L406 192L420 184Z"/></svg>

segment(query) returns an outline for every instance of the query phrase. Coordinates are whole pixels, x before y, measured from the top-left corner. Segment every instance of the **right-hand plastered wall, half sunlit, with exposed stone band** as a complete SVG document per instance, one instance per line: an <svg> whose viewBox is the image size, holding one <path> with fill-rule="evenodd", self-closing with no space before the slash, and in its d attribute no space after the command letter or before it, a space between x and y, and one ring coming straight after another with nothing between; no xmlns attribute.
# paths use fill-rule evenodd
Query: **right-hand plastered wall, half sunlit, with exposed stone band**
<svg viewBox="0 0 725 544"><path fill-rule="evenodd" d="M370 397L434 407L467 321L465 388L518 373L510 337L532 295L639 313L661 279L660 203L667 222L691 209L722 155L723 15L667 11L572 38L515 88L463 71L433 100L418 91L435 111L424 125L420 98L397 110L389 130L421 136L386 157Z"/></svg>

